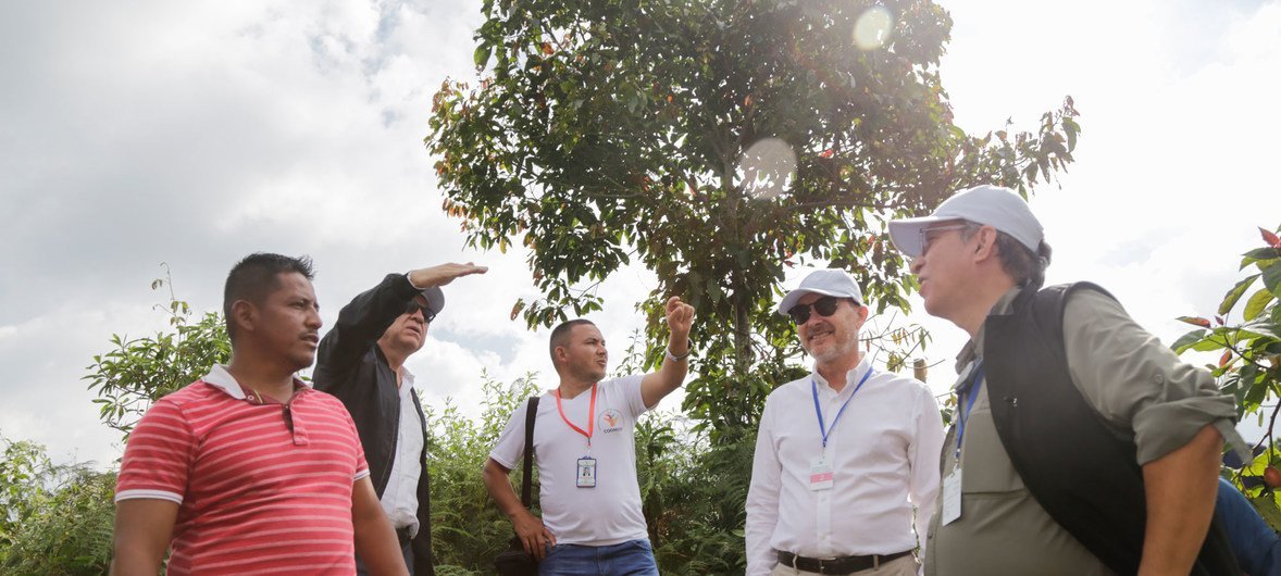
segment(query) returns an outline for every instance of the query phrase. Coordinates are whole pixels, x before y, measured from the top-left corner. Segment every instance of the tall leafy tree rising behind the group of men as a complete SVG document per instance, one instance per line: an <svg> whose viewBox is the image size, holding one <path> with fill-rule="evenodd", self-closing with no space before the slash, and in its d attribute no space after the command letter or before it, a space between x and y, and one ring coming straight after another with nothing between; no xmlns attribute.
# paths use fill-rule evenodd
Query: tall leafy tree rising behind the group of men
<svg viewBox="0 0 1281 576"><path fill-rule="evenodd" d="M784 266L851 270L879 310L915 279L886 219L948 192L1025 195L1072 161L1071 99L1035 133L966 134L939 56L951 17L929 0L485 0L477 86L446 82L429 150L468 242L523 242L546 294L530 326L601 307L633 261L657 302L699 310L687 410L749 428L793 328L769 314ZM648 365L661 356L647 310ZM921 337L924 338L924 337ZM924 340L921 340L924 343Z"/></svg>

